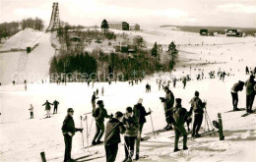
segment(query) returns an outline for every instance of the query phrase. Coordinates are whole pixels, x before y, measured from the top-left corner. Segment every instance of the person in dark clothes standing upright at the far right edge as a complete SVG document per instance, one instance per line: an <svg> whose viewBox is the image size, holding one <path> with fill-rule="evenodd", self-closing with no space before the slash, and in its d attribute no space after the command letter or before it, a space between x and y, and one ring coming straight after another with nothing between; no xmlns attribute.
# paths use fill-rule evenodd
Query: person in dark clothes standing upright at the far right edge
<svg viewBox="0 0 256 162"><path fill-rule="evenodd" d="M246 112L252 113L252 105L255 97L255 91L253 89L256 82L254 81L255 77L250 76L249 80L245 81L246 87Z"/></svg>

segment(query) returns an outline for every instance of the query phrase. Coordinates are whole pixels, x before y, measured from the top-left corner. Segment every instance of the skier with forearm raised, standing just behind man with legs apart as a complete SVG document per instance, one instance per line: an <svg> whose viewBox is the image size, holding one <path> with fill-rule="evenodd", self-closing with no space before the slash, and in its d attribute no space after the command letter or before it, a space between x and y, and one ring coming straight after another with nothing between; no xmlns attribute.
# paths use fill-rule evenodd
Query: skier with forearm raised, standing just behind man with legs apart
<svg viewBox="0 0 256 162"><path fill-rule="evenodd" d="M174 104L174 95L171 92L171 90L167 87L164 86L164 91L165 91L165 98L160 97L161 102L163 102L163 107L164 107L164 113L165 113L165 121L167 123L167 125L163 128L163 130L172 130L171 127L171 121L172 121L172 117L171 117L171 110L173 108L173 104Z"/></svg>

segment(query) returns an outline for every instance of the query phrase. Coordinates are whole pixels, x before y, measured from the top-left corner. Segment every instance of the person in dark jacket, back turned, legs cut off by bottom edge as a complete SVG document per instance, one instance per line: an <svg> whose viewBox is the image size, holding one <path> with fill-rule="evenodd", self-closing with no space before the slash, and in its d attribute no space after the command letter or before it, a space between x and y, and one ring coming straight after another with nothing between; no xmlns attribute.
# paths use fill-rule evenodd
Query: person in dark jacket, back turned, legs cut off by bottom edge
<svg viewBox="0 0 256 162"><path fill-rule="evenodd" d="M125 133L125 127L120 122L123 113L116 112L114 118L110 118L106 123L104 148L106 162L114 162L118 151L118 143L121 142L120 134Z"/></svg>

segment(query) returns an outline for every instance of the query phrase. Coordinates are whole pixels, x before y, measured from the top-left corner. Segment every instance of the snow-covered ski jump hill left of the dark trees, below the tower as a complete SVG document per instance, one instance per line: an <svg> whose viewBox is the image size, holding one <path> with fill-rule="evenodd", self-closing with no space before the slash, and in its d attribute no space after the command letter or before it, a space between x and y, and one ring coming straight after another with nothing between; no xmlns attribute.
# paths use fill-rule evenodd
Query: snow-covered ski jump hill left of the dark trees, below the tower
<svg viewBox="0 0 256 162"><path fill-rule="evenodd" d="M9 84L12 81L22 83L44 80L48 77L49 61L54 56L54 48L51 47L51 33L27 28L21 30L5 42L3 49L22 48L38 43L26 59L25 69L19 71L21 56L24 51L0 53L0 82Z"/></svg>

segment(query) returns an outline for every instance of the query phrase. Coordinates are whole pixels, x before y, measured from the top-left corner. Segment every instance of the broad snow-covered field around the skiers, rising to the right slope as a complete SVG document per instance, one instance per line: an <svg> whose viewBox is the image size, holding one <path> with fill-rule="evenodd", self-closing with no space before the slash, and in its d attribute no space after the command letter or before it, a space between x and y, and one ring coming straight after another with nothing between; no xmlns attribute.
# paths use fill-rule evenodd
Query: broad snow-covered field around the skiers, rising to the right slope
<svg viewBox="0 0 256 162"><path fill-rule="evenodd" d="M34 82L28 84L28 91L24 90L23 84L0 86L0 161L40 161L39 153L41 151L45 152L47 161L63 161L64 138L61 133L61 126L66 116L67 108L74 108L76 127L81 127L80 116L83 115L85 117L85 113L92 111L91 97L93 91L96 88L100 91L102 86L104 86L105 95L99 96L99 99L104 101L108 113L124 112L127 106L133 106L137 103L139 97L142 97L146 110L149 110L149 108L153 110L152 118L155 130L162 129L165 126L165 119L159 98L164 96L164 92L163 90L159 91L156 79L170 80L171 75L177 77L189 75L190 66L192 67L191 76L193 81L187 82L185 89L183 89L181 81L178 81L175 88L172 85L170 86L171 90L175 97L182 98L182 105L186 109L190 108L188 102L193 97L195 90L198 90L200 97L203 100L207 100L207 110L212 121L218 119L218 113L222 113L225 139L219 140L218 134L189 139L188 150L172 153L174 139L169 137L173 136L173 131L162 133L157 135L156 138L152 137L147 141L142 141L141 154L149 155L149 157L140 161L256 161L255 114L242 118L240 116L245 113L244 111L224 113L232 109L230 87L236 81L246 81L249 78L249 76L245 76L246 65L251 68L256 65L255 38L205 37L195 33L166 29L150 30L149 32L140 33L149 42L160 41L162 44L168 44L170 41L175 40L176 43L188 43L190 38L191 44L201 44L204 41L205 44L216 43L219 45L180 46L180 62L176 66L175 72L172 74L160 73L147 77L142 83L134 86L129 86L128 82L113 82L111 85L106 82L100 82L96 83L94 88L92 86L88 87L87 83L56 85L55 83L42 84ZM40 57L43 55L47 54L49 59L49 56L54 54L50 42L46 43L50 35L45 33L42 36L44 36L44 41L42 42L45 42L44 48L47 52L41 52L43 49L37 49L37 51L35 49L34 53L32 53L34 54L32 62L28 61L30 69L36 68L40 64L35 61L41 60ZM8 58L6 56L6 59ZM46 60L47 58L44 60L45 69L41 68L42 71L39 71L40 73L48 71ZM4 62L6 63L6 61L8 60ZM198 63L209 61L210 63L216 61L217 64L197 65ZM43 67L43 64L41 67ZM224 70L234 76L226 77L224 81L209 79L208 73L212 70L218 72L220 68L222 71ZM203 69L207 79L196 81L195 76L201 73ZM145 92L147 82L152 85L151 93ZM45 117L45 111L41 105L46 99L50 102L57 99L60 105L57 115L51 115L49 119L42 119ZM34 119L29 119L30 111L28 109L30 104L34 106ZM254 103L254 107L255 105ZM239 92L238 107L245 107L245 91ZM92 116L88 115L89 130L92 120ZM150 116L147 117L147 121L143 133L152 132ZM205 122L203 122L202 126L205 126ZM85 121L83 122L83 127L85 128L85 145L87 145ZM94 122L89 132L90 143L95 131ZM122 143L119 145L117 154L116 161L118 162L124 158L124 146ZM73 137L73 158L89 154L88 150L82 147L82 135L77 133ZM94 150L97 150L98 153L85 159L104 156L102 145L90 148L90 151ZM105 161L105 157L97 158L95 161Z"/></svg>

